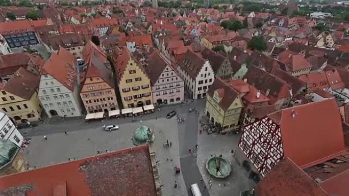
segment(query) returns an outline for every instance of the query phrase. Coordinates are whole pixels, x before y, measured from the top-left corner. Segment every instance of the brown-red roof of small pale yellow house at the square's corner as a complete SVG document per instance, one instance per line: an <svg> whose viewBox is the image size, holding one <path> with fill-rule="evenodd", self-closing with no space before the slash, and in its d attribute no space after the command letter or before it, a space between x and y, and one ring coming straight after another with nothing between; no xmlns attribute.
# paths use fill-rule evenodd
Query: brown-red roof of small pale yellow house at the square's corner
<svg viewBox="0 0 349 196"><path fill-rule="evenodd" d="M215 91L218 92L221 98L218 104L223 110L227 110L233 101L235 101L236 98L239 98L239 93L219 77L216 77L210 89L207 91L207 94L213 97Z"/></svg>

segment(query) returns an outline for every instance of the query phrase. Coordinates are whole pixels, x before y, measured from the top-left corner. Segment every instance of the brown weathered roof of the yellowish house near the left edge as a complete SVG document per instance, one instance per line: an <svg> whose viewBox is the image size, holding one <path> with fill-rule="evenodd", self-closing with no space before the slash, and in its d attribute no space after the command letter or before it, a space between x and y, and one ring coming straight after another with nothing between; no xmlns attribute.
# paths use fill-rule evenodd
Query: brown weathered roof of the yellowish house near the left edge
<svg viewBox="0 0 349 196"><path fill-rule="evenodd" d="M20 67L0 89L29 100L39 85L40 76Z"/></svg>

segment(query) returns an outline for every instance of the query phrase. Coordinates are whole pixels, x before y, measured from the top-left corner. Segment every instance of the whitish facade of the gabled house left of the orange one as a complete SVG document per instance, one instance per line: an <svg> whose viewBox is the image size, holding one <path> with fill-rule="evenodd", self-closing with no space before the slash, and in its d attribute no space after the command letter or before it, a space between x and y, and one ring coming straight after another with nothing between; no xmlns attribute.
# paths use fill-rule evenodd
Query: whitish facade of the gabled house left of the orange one
<svg viewBox="0 0 349 196"><path fill-rule="evenodd" d="M71 91L51 75L41 75L38 98L49 118L81 116L79 97L77 84Z"/></svg>

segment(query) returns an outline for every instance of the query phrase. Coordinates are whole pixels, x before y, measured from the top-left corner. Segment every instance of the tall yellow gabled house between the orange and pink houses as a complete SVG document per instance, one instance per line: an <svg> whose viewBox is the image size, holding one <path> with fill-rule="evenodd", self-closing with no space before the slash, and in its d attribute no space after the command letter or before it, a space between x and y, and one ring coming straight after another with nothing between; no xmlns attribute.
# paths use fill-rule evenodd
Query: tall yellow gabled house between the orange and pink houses
<svg viewBox="0 0 349 196"><path fill-rule="evenodd" d="M127 48L115 62L123 108L153 104L151 82Z"/></svg>

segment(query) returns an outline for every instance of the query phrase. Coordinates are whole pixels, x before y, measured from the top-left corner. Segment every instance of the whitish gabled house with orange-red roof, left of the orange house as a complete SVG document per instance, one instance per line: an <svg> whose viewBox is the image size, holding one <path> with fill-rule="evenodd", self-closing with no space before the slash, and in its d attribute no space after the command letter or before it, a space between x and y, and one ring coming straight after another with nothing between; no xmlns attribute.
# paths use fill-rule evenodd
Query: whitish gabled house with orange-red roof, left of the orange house
<svg viewBox="0 0 349 196"><path fill-rule="evenodd" d="M42 67L38 98L48 118L79 117L81 106L76 58L66 49L51 54Z"/></svg>

